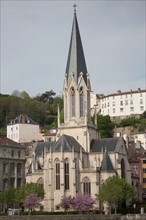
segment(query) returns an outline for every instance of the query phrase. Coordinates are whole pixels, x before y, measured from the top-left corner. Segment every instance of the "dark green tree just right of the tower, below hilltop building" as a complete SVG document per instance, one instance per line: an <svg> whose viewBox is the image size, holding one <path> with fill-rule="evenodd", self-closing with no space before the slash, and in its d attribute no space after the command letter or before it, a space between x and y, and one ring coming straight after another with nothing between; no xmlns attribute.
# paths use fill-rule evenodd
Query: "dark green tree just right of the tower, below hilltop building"
<svg viewBox="0 0 146 220"><path fill-rule="evenodd" d="M113 137L114 123L112 123L110 116L97 115L97 131L101 138Z"/></svg>

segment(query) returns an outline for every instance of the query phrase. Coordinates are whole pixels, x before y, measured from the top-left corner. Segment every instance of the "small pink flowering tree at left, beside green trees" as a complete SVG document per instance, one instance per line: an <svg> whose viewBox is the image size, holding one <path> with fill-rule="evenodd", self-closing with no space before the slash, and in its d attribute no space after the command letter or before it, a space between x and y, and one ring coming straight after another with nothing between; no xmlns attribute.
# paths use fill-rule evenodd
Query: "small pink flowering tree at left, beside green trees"
<svg viewBox="0 0 146 220"><path fill-rule="evenodd" d="M24 206L28 208L29 214L34 208L38 208L41 206L40 201L40 198L37 197L36 194L31 193L26 196L26 199L24 200Z"/></svg>

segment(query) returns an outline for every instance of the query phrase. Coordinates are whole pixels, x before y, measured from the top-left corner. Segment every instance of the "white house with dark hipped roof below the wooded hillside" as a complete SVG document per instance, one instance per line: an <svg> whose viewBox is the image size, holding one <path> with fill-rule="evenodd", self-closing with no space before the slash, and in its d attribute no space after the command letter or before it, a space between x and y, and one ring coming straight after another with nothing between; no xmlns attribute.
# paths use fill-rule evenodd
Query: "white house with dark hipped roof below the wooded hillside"
<svg viewBox="0 0 146 220"><path fill-rule="evenodd" d="M26 115L19 115L7 125L7 138L26 143L38 139L39 125Z"/></svg>

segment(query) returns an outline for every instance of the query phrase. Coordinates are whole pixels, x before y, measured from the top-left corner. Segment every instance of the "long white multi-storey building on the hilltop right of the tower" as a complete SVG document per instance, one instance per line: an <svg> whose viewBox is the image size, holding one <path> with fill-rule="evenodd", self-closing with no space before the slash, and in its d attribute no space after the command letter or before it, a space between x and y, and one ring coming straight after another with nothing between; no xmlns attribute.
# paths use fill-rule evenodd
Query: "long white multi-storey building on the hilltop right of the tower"
<svg viewBox="0 0 146 220"><path fill-rule="evenodd" d="M101 114L109 115L112 119L140 115L146 111L146 90L130 90L104 96L100 100Z"/></svg>

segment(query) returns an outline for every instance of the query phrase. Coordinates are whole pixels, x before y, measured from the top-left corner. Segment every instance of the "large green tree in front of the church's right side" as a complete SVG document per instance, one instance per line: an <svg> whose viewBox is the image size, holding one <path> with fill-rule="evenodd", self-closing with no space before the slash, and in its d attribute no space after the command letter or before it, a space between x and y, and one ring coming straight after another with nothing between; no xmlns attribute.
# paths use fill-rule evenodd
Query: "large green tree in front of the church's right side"
<svg viewBox="0 0 146 220"><path fill-rule="evenodd" d="M121 179L119 176L111 176L106 179L100 186L97 199L100 202L107 202L109 204L110 213L111 208L117 209L118 202L129 200L135 197L134 188Z"/></svg>

